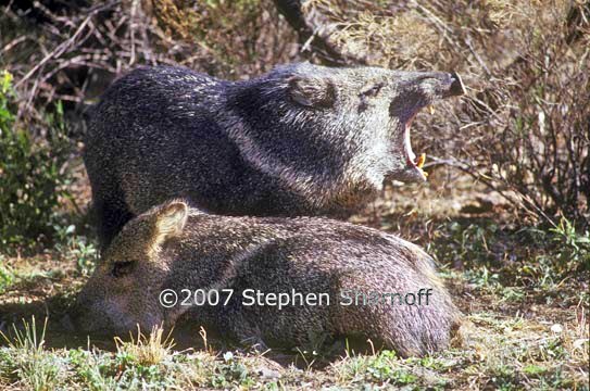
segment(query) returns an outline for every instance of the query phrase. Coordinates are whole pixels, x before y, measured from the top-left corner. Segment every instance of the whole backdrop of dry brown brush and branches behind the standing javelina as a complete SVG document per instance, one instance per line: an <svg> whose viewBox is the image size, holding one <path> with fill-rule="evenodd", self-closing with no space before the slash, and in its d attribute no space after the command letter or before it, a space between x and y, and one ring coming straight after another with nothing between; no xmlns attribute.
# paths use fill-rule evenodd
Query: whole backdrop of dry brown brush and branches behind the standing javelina
<svg viewBox="0 0 590 391"><path fill-rule="evenodd" d="M74 139L84 109L140 64L230 79L303 60L456 71L468 96L414 125L430 169L474 176L524 217L588 225L587 2L13 1L4 12L0 66L16 80L20 119L61 100Z"/></svg>

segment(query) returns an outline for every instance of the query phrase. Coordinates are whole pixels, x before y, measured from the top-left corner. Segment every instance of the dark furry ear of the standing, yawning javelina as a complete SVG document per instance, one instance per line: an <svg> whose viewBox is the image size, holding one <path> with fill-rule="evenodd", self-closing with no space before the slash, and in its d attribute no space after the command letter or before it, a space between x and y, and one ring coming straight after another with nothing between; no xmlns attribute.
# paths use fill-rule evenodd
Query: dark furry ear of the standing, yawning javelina
<svg viewBox="0 0 590 391"><path fill-rule="evenodd" d="M304 106L331 108L336 101L336 87L325 78L293 76L289 79L289 94Z"/></svg>

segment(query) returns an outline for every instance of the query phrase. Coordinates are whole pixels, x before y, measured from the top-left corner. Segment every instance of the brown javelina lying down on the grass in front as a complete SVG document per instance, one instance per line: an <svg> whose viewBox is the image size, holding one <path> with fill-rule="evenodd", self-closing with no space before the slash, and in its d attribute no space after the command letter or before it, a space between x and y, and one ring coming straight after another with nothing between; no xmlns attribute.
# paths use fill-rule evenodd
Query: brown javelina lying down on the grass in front
<svg viewBox="0 0 590 391"><path fill-rule="evenodd" d="M163 290L179 302L161 305ZM184 306L183 289L221 292L217 305ZM227 305L223 289L233 289ZM251 292L329 294L329 305L252 304ZM419 292L430 292L428 303ZM414 302L350 304L361 292L412 293ZM188 294L187 294L188 297ZM361 297L359 297L361 298ZM168 298L170 299L170 298ZM375 298L373 298L375 299ZM212 303L213 303L212 299ZM189 300L192 302L192 299ZM264 303L264 302L263 302ZM369 301L367 300L367 303ZM412 305L414 304L414 305ZM184 319L240 341L293 346L310 336L371 338L401 355L449 346L460 313L418 247L375 229L325 218L215 216L171 201L124 226L72 311L84 331L124 333Z"/></svg>

